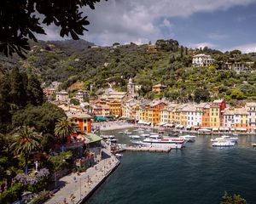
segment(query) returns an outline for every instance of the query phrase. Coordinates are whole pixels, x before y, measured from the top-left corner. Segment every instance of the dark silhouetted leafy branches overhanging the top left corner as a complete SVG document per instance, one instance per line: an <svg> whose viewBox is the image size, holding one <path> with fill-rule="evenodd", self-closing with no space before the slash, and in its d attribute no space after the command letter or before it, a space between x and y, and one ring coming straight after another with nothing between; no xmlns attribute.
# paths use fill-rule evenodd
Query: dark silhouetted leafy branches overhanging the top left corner
<svg viewBox="0 0 256 204"><path fill-rule="evenodd" d="M78 40L78 35L88 31L84 26L90 24L81 8L94 9L95 3L100 1L0 1L0 52L7 56L17 53L25 58L26 50L30 49L28 39L37 42L35 34L45 34L43 25L54 24L61 27L61 37L71 35ZM44 17L40 20L38 14Z"/></svg>

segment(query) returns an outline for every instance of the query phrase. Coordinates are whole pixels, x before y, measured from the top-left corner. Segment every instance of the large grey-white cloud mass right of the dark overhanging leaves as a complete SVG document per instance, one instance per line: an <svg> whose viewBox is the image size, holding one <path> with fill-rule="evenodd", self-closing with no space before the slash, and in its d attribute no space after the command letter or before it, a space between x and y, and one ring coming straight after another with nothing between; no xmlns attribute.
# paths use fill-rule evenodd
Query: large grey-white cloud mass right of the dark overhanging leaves
<svg viewBox="0 0 256 204"><path fill-rule="evenodd" d="M90 20L90 26L87 26L89 32L84 32L82 38L100 45L109 45L113 42L154 42L165 36L175 35L170 21L173 17L187 18L198 12L224 10L253 2L255 0L101 1L96 3L95 10L82 8L84 15L88 15ZM56 31L51 29L48 32L50 39L58 37Z"/></svg>

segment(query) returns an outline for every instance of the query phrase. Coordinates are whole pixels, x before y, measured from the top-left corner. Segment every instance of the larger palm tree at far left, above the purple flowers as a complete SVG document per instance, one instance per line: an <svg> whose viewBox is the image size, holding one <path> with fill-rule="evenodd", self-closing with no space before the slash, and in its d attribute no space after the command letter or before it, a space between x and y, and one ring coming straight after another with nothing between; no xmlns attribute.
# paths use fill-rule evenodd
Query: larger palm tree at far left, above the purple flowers
<svg viewBox="0 0 256 204"><path fill-rule="evenodd" d="M13 142L10 145L15 155L25 156L25 173L27 175L27 161L30 152L41 148L42 134L34 131L34 127L22 126L13 134Z"/></svg>

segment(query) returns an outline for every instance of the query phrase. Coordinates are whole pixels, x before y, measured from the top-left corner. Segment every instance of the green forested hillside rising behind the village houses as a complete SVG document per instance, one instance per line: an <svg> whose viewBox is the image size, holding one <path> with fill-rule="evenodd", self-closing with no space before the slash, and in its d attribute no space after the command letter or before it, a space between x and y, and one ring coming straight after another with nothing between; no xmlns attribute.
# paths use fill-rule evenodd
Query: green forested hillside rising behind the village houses
<svg viewBox="0 0 256 204"><path fill-rule="evenodd" d="M27 72L38 74L42 82L63 82L68 88L79 82L78 88L97 88L113 83L118 90L125 90L128 79L143 85L140 94L151 99L161 98L179 101L224 98L236 103L236 99L256 99L255 65L250 71L236 73L221 71L222 61L255 61L255 54L240 51L222 53L203 48L192 50L175 40L158 40L157 48L134 43L111 47L96 47L90 42L38 42L32 43L27 59L1 59L1 69L6 71L18 65ZM216 62L211 67L191 67L193 54L211 54ZM162 83L167 86L163 94L151 92L151 86ZM198 96L198 95L196 95ZM196 97L198 98L198 97Z"/></svg>

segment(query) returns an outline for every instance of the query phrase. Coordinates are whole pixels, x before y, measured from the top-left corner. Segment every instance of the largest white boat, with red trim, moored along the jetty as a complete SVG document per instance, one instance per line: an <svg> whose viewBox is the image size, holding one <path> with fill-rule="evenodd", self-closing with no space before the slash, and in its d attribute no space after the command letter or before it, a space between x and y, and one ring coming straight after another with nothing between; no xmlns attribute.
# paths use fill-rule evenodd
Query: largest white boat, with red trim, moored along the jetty
<svg viewBox="0 0 256 204"><path fill-rule="evenodd" d="M152 147L170 147L172 149L182 149L185 139L178 138L162 138L159 135L151 135L147 139L143 139L143 145Z"/></svg>

